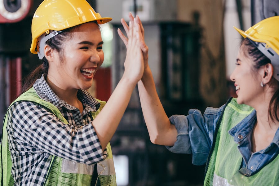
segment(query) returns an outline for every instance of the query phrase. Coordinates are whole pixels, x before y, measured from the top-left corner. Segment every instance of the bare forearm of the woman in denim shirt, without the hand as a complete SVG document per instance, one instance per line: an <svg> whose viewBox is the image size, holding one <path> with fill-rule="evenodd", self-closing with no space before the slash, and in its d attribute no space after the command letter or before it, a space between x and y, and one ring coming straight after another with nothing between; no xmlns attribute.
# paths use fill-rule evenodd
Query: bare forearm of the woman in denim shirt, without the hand
<svg viewBox="0 0 279 186"><path fill-rule="evenodd" d="M170 124L162 103L158 97L152 72L146 67L142 79L138 82L139 98L144 120L152 143L172 146L177 131Z"/></svg>

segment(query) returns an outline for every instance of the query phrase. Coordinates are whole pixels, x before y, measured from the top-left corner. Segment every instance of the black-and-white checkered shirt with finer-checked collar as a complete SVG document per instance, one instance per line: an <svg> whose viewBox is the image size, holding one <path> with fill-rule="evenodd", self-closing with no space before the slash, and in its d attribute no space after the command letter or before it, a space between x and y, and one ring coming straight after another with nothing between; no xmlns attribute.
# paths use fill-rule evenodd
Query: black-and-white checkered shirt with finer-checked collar
<svg viewBox="0 0 279 186"><path fill-rule="evenodd" d="M87 165L104 160L107 153L102 151L90 113L98 110L100 103L87 91L78 90L77 96L84 105L80 113L51 90L44 76L33 87L40 98L60 110L69 125L31 102L17 102L11 106L7 112L7 134L15 185L43 185L50 167L50 155Z"/></svg>

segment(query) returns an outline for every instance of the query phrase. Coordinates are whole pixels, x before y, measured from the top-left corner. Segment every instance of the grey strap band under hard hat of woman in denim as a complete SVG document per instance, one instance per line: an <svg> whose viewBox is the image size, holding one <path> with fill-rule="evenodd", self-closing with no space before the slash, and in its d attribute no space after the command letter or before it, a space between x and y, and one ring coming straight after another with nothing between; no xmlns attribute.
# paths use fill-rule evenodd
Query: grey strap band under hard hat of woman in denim
<svg viewBox="0 0 279 186"><path fill-rule="evenodd" d="M248 38L249 39L249 38ZM271 48L266 47L266 43L255 42L249 39L265 56L267 56L274 68L273 77L279 81L279 55Z"/></svg>

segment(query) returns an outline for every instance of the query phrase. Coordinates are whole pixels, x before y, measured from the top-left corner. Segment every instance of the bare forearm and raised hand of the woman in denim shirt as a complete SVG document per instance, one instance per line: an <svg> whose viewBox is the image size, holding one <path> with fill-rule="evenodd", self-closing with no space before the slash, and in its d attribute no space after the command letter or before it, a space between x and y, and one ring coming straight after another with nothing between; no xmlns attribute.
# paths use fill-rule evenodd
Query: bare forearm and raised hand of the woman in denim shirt
<svg viewBox="0 0 279 186"><path fill-rule="evenodd" d="M144 74L141 80L138 82L139 98L144 115L144 120L148 129L150 140L152 143L173 146L176 141L177 131L174 125L170 124L170 120L165 113L162 103L156 91L155 82L150 67L148 66L148 47L144 42L144 28L139 19L139 16L135 18L129 13L130 23L137 23L140 28L141 37L139 37L139 45L144 58ZM121 19L121 23L125 29L127 37L117 30L118 35L129 48L129 42L132 39L130 37L131 27L127 25L124 19Z"/></svg>

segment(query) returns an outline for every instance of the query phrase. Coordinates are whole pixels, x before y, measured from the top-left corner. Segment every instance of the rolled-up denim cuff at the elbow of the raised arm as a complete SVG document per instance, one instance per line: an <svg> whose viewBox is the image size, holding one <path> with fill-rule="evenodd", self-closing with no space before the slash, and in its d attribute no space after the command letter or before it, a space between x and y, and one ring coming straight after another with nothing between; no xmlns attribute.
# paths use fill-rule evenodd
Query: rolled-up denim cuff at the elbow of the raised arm
<svg viewBox="0 0 279 186"><path fill-rule="evenodd" d="M187 117L184 115L173 115L169 118L169 120L170 123L175 125L177 130L177 139L172 147L166 146L166 148L173 153L191 154L192 150L188 133Z"/></svg>

